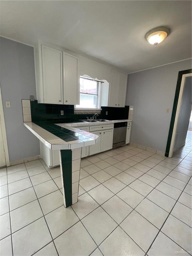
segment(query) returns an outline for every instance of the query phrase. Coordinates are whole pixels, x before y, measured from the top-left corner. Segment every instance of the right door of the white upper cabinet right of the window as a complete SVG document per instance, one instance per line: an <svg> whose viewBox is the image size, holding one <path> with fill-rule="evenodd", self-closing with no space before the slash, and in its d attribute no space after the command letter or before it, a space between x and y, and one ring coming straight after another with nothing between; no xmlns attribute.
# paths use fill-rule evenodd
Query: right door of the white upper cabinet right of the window
<svg viewBox="0 0 192 256"><path fill-rule="evenodd" d="M127 92L127 75L119 73L118 107L125 107Z"/></svg>

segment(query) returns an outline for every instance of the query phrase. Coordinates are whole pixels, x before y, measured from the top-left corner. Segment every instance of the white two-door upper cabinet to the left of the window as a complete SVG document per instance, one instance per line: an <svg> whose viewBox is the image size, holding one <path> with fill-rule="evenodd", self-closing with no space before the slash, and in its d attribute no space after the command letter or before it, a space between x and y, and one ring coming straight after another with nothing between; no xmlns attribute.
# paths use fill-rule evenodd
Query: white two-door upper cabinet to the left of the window
<svg viewBox="0 0 192 256"><path fill-rule="evenodd" d="M60 48L59 48L60 49ZM39 48L40 103L79 104L79 59L59 49L45 45Z"/></svg>

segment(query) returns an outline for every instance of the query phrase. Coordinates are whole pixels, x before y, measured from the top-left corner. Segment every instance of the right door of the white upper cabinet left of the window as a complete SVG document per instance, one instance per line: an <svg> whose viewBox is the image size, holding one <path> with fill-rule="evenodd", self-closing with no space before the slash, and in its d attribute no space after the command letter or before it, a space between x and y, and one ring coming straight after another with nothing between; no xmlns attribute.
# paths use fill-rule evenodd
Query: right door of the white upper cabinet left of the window
<svg viewBox="0 0 192 256"><path fill-rule="evenodd" d="M80 101L79 59L63 52L63 103L77 105Z"/></svg>

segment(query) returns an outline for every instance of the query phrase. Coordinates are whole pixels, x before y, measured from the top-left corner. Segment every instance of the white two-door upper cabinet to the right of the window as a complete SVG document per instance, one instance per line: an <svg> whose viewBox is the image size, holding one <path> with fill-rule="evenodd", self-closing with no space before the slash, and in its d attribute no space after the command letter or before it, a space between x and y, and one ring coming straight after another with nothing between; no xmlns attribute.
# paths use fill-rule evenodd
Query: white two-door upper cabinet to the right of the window
<svg viewBox="0 0 192 256"><path fill-rule="evenodd" d="M111 70L109 107L125 107L127 75Z"/></svg>

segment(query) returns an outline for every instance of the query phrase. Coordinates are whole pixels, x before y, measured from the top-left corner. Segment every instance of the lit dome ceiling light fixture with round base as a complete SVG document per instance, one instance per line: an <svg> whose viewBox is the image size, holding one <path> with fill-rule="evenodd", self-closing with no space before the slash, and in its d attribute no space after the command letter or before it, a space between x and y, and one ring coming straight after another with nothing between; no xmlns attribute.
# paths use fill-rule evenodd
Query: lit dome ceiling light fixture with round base
<svg viewBox="0 0 192 256"><path fill-rule="evenodd" d="M161 43L170 34L170 29L166 27L157 27L151 29L145 35L145 39L153 45Z"/></svg>

